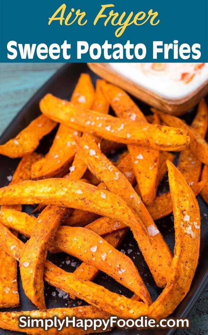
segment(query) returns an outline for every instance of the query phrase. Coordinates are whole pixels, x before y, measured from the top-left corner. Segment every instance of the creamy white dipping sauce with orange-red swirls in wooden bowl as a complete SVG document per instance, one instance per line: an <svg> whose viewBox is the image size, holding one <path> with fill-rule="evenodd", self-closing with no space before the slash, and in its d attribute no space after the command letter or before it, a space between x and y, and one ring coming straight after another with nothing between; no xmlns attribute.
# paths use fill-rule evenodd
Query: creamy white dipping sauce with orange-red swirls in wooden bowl
<svg viewBox="0 0 208 335"><path fill-rule="evenodd" d="M165 98L180 99L208 80L208 63L110 63L119 74Z"/></svg>

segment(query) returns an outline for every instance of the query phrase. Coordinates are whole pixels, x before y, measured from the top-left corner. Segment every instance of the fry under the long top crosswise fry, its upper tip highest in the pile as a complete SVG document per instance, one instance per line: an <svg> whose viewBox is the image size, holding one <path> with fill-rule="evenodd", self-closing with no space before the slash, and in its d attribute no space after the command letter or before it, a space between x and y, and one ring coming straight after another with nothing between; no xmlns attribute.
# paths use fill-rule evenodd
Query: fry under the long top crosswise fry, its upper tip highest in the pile
<svg viewBox="0 0 208 335"><path fill-rule="evenodd" d="M90 76L87 73L82 73L72 94L71 102L81 107L90 108L93 99L94 87ZM37 163L38 166L33 167L33 179L63 177L76 153L75 142L78 136L80 133L76 130L60 125L45 160L42 160L41 168L40 162Z"/></svg>

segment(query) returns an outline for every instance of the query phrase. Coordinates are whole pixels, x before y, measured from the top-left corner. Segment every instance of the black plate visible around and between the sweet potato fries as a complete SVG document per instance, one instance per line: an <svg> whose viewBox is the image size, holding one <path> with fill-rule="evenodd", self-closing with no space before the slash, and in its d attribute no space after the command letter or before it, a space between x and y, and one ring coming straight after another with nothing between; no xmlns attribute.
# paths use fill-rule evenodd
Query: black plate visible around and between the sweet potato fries
<svg viewBox="0 0 208 335"><path fill-rule="evenodd" d="M60 97L60 98L68 98L70 99L71 93L74 89L75 83L78 80L78 77L81 72L88 72L90 73L93 82L95 83L95 80L97 76L92 73L86 64L67 64L63 66L39 91L33 95L33 97L29 100L29 102L23 107L23 109L17 114L15 119L10 123L10 125L7 127L7 129L4 131L0 138L0 143L3 144L10 138L13 138L17 135L17 133L23 129L25 126L28 125L28 123L37 117L40 114L39 110L39 101L40 99L48 92L53 93L54 95ZM149 107L138 100L134 99L136 103L141 107L141 109L145 113L149 113ZM191 112L187 113L184 118L188 123L190 123L195 115L196 110L193 109ZM53 137L56 133L56 130L54 130L50 135L47 135L40 143L40 146L38 148L39 152L46 153L52 143ZM112 157L114 158L114 157ZM10 159L6 156L0 155L0 186L5 186L8 184L7 176L13 174L19 159ZM160 188L158 192L164 192L168 189L167 184L167 178L164 178L164 181L160 185ZM200 258L199 258L199 264L197 267L196 274L194 276L193 283L191 285L191 289L185 299L182 301L182 303L178 306L178 308L175 310L175 312L172 314L172 317L179 318L179 317L185 317L190 312L191 308L196 303L197 299L199 298L202 290L204 289L206 283L208 282L208 262L207 262L207 241L208 241L208 231L207 231L207 205L204 203L202 198L198 196L198 201L200 205L201 210L201 248L200 248ZM28 213L31 212L31 206L24 206L24 210ZM162 235L164 236L164 239L169 244L171 250L173 251L174 248L174 229L173 229L173 217L172 215L168 215L165 218L162 218L161 220L157 220L156 224L158 225ZM126 254L133 260L135 265L137 266L140 275L142 276L145 284L147 285L152 300L155 300L160 294L161 289L156 287L154 280L149 273L148 267L143 259L143 256L138 250L136 241L133 239L132 233L129 232L123 242L121 243L119 250L124 250ZM53 261L56 265L61 266L64 270L73 272L75 269L71 265L67 265L66 258L68 255L64 253L56 254L56 255L48 255L48 258ZM70 260L72 261L73 258L70 257ZM64 262L64 264L62 264ZM77 259L74 259L74 262L77 262L77 265L80 264L80 261ZM122 285L115 282L112 278L108 277L104 273L99 273L99 275L95 279L96 283L99 283L100 285L103 285L107 287L108 289L117 292L122 293L128 297L132 295L132 293L123 287ZM21 306L19 308L16 308L15 310L21 311L21 310L33 310L36 309L36 307L30 302L30 300L25 296L24 291L21 286L21 279L19 279L19 293L20 293L20 301ZM52 292L56 292L56 297L52 296ZM80 300L72 300L70 298L63 298L58 297L58 292L56 289L47 283L45 283L45 298L46 298L46 304L47 308L53 308L53 307L73 307L78 306L81 303ZM1 311L12 311L13 309L2 309ZM150 330L144 330L139 331L140 334L150 334ZM174 329L170 330L155 330L154 334L172 334L174 332ZM10 332L0 329L1 335L17 335L22 333L17 332ZM103 334L103 333L102 333ZM124 334L131 334L136 335L138 334L138 330L117 330L114 329L111 332L111 335L124 335Z"/></svg>

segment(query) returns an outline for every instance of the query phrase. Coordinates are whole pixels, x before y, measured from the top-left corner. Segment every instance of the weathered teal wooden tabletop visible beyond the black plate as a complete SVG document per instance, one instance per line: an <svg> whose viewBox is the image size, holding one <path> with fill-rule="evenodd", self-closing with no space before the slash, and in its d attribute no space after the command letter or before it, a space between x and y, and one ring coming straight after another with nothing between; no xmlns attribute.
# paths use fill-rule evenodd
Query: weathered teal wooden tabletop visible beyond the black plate
<svg viewBox="0 0 208 335"><path fill-rule="evenodd" d="M63 64L0 64L0 134L31 95ZM189 314L191 328L177 335L208 334L208 285Z"/></svg>

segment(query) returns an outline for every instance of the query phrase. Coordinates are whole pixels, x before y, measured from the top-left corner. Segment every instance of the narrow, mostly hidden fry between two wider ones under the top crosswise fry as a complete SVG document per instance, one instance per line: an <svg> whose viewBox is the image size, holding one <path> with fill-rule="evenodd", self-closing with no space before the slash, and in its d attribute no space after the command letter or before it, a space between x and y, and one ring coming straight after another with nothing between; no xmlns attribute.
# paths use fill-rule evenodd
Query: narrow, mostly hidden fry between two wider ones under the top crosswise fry
<svg viewBox="0 0 208 335"><path fill-rule="evenodd" d="M102 87L105 84L106 84L105 80L97 79L94 103L92 105L93 111L97 111L102 114L108 114L109 112L109 103L102 92ZM79 153L77 152L75 154L72 166L70 167L69 179L71 180L81 179L86 170L87 166L85 165L82 157L80 157Z"/></svg>

